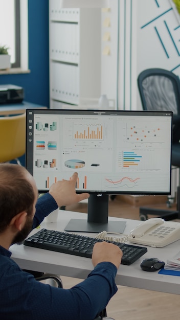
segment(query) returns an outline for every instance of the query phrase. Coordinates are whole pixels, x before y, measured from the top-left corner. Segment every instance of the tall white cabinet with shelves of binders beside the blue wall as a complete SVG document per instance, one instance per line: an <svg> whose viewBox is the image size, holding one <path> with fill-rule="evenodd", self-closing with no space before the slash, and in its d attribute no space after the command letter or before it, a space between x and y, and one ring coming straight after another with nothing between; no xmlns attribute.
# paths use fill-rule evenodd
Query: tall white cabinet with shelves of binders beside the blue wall
<svg viewBox="0 0 180 320"><path fill-rule="evenodd" d="M83 99L100 97L101 9L49 3L50 108L76 107Z"/></svg>

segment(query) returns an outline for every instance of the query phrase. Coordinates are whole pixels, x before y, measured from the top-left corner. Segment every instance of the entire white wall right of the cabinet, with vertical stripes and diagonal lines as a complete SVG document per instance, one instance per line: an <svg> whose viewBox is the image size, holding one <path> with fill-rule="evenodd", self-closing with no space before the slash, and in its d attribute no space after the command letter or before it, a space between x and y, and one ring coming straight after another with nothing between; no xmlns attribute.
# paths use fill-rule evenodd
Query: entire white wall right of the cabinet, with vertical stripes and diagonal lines
<svg viewBox="0 0 180 320"><path fill-rule="evenodd" d="M110 3L110 12L102 13L102 24L103 15L110 17L106 29L111 38L110 55L102 53L101 93L116 99L118 109L141 110L137 77L142 70L160 67L180 76L180 19L170 0L110 0ZM103 45L102 37L102 50Z"/></svg>

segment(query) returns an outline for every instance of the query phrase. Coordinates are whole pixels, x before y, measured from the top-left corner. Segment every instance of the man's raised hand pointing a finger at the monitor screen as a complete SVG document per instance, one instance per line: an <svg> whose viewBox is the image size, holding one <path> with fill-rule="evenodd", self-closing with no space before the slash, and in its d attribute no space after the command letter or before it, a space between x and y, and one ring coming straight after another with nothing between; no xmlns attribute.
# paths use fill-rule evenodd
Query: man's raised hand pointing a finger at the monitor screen
<svg viewBox="0 0 180 320"><path fill-rule="evenodd" d="M78 173L75 172L70 180L57 181L50 187L49 193L56 200L58 207L61 205L70 205L89 197L88 193L76 193L76 181Z"/></svg>

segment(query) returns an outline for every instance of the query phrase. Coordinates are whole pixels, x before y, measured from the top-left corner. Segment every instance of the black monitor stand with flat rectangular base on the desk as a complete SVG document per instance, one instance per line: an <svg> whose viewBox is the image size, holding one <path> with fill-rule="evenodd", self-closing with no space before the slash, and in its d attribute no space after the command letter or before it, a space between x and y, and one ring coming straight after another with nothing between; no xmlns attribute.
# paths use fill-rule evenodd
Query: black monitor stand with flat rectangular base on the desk
<svg viewBox="0 0 180 320"><path fill-rule="evenodd" d="M123 233L125 221L108 221L108 201L106 194L91 194L88 198L87 220L71 219L64 228L65 231L94 232L102 231Z"/></svg>

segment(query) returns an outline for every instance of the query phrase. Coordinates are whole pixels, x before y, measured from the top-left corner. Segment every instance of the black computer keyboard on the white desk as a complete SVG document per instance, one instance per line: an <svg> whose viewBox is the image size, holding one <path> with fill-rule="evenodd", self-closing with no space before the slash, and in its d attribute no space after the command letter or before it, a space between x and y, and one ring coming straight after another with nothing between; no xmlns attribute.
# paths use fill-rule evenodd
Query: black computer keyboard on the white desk
<svg viewBox="0 0 180 320"><path fill-rule="evenodd" d="M42 229L33 236L27 238L24 241L24 245L74 256L91 258L94 244L101 241L104 240L76 234L69 234L66 232ZM147 252L146 247L114 241L107 242L114 243L121 248L123 252L121 264L130 265Z"/></svg>

